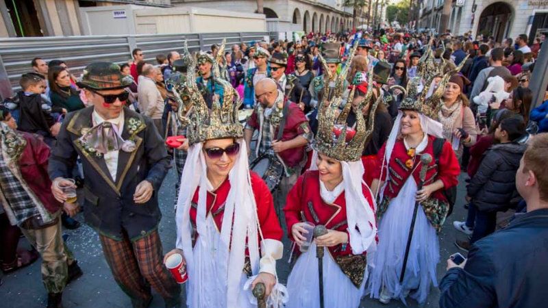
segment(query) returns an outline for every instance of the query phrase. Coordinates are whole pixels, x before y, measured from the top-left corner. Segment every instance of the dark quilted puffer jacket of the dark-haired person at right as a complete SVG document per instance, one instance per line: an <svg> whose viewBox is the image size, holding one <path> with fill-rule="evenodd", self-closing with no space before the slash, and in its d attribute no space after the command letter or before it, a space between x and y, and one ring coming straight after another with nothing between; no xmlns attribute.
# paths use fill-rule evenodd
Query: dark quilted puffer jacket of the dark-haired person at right
<svg viewBox="0 0 548 308"><path fill-rule="evenodd" d="M466 188L468 196L480 211L504 211L516 191L516 170L525 145L495 144L485 153L482 163Z"/></svg>

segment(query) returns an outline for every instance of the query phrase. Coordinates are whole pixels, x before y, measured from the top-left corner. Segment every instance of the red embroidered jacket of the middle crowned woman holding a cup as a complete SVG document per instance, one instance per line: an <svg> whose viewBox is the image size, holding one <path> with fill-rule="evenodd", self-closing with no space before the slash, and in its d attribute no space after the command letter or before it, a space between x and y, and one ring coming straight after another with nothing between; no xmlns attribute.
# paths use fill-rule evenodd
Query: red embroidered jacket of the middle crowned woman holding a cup
<svg viewBox="0 0 548 308"><path fill-rule="evenodd" d="M374 212L373 196L371 196L371 192L363 184L362 192ZM333 203L323 201L320 195L318 170L307 171L297 179L297 183L287 196L284 212L286 214L288 236L292 241L295 240L293 239L291 228L293 224L303 222L303 218L308 222L312 222L312 224L323 224L327 229L342 231L348 234L345 192L343 190ZM343 244L338 244L329 247L329 253L334 258L351 255L352 247L350 243L347 243L344 250L343 246Z"/></svg>

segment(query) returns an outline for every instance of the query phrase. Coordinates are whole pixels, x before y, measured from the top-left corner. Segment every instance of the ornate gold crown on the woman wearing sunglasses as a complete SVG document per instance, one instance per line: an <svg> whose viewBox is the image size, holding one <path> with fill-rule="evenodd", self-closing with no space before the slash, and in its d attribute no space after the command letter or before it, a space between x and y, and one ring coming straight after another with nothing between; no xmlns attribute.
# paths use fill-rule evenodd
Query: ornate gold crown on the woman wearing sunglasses
<svg viewBox="0 0 548 308"><path fill-rule="evenodd" d="M196 144L211 139L242 138L243 127L238 120L238 107L242 104L238 92L228 81L216 79L223 86L222 103L216 97L209 110L195 82L195 60L188 53L188 71L186 88L190 97L188 114L179 112L179 119L186 125L186 138L189 144ZM180 108L179 108L180 109ZM187 108L188 110L189 108Z"/></svg>

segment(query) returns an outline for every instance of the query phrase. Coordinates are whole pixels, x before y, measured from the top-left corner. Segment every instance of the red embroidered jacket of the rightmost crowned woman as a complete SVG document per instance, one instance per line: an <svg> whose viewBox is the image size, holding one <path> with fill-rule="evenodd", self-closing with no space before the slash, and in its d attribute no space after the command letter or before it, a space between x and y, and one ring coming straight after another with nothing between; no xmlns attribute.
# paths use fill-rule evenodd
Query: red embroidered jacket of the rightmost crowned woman
<svg viewBox="0 0 548 308"><path fill-rule="evenodd" d="M432 162L428 165L424 185L432 184L437 179L440 179L443 182L444 189L456 186L458 184L458 175L460 174L460 165L458 164L458 159L455 152L451 149L451 144L446 141L443 144L443 149L440 153L438 166L438 164L436 164L436 158L434 157L434 139L434 136L428 136L428 144L423 151L423 153L429 153L432 155ZM386 181L386 175L390 172L390 181L386 184L384 196L394 198L398 195L399 190L401 190L403 184L411 175L412 170L415 182L419 183L419 172L421 171L422 166L419 164L421 157L420 155L416 155L414 159L414 166L412 168L408 168L406 166L406 161L411 157L407 153L403 140L396 140L392 156L390 157L390 162L388 163L388 166L386 166L385 163L384 168L382 168L382 161L384 160L385 151L386 142L382 146L379 153L377 153L377 169L374 171L374 178L380 178L382 181ZM417 166L417 164L419 164L419 166ZM438 200L447 201L447 198L443 195L442 190L437 190L432 193L432 197L437 198Z"/></svg>

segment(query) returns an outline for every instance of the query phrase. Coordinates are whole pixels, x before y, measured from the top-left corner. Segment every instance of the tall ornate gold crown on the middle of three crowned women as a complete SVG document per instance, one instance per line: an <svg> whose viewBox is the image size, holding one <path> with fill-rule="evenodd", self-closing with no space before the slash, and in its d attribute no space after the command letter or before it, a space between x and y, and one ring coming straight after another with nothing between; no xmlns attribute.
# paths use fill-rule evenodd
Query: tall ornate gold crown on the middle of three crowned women
<svg viewBox="0 0 548 308"><path fill-rule="evenodd" d="M319 105L318 133L312 144L316 152L341 162L355 162L360 159L365 141L373 132L375 110L377 109L379 102L382 101L382 99L377 99L373 103L373 106L369 109L369 119L367 121L361 116L359 110L362 110L364 105L371 101L373 95L373 74L368 73L367 93L356 110L356 129L347 131L347 117L350 113L350 108L352 107L352 101L354 99L354 87L350 90L345 107L342 111L339 110L339 106L343 102L345 79L350 67L349 64L352 61L357 46L357 44L354 45L353 49L350 51L350 56L346 65L335 79L335 90L332 99L327 99L327 95L325 95L323 101L321 101ZM324 71L330 75L323 57L320 56L320 60L324 66ZM324 91L327 92L328 90L329 84L325 83ZM349 133L352 133L353 136L349 136L350 138L347 140L347 134Z"/></svg>

